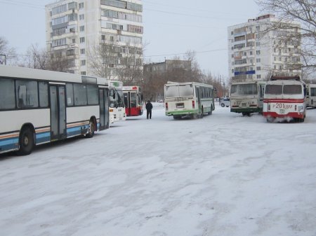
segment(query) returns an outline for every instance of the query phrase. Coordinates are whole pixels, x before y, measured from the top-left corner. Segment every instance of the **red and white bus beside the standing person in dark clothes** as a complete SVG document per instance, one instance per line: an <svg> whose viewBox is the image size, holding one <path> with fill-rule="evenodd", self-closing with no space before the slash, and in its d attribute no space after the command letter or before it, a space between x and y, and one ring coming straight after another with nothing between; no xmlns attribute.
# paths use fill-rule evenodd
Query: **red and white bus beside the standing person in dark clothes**
<svg viewBox="0 0 316 236"><path fill-rule="evenodd" d="M143 115L143 94L139 86L123 86L126 116Z"/></svg>

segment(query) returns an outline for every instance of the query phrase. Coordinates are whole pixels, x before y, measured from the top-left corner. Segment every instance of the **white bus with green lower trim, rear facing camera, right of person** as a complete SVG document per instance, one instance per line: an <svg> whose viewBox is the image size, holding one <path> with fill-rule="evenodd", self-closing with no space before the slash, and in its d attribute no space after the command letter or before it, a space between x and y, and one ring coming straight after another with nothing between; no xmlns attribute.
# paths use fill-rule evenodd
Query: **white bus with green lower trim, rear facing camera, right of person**
<svg viewBox="0 0 316 236"><path fill-rule="evenodd" d="M164 85L166 116L203 118L215 109L213 85L195 82L168 82Z"/></svg>

